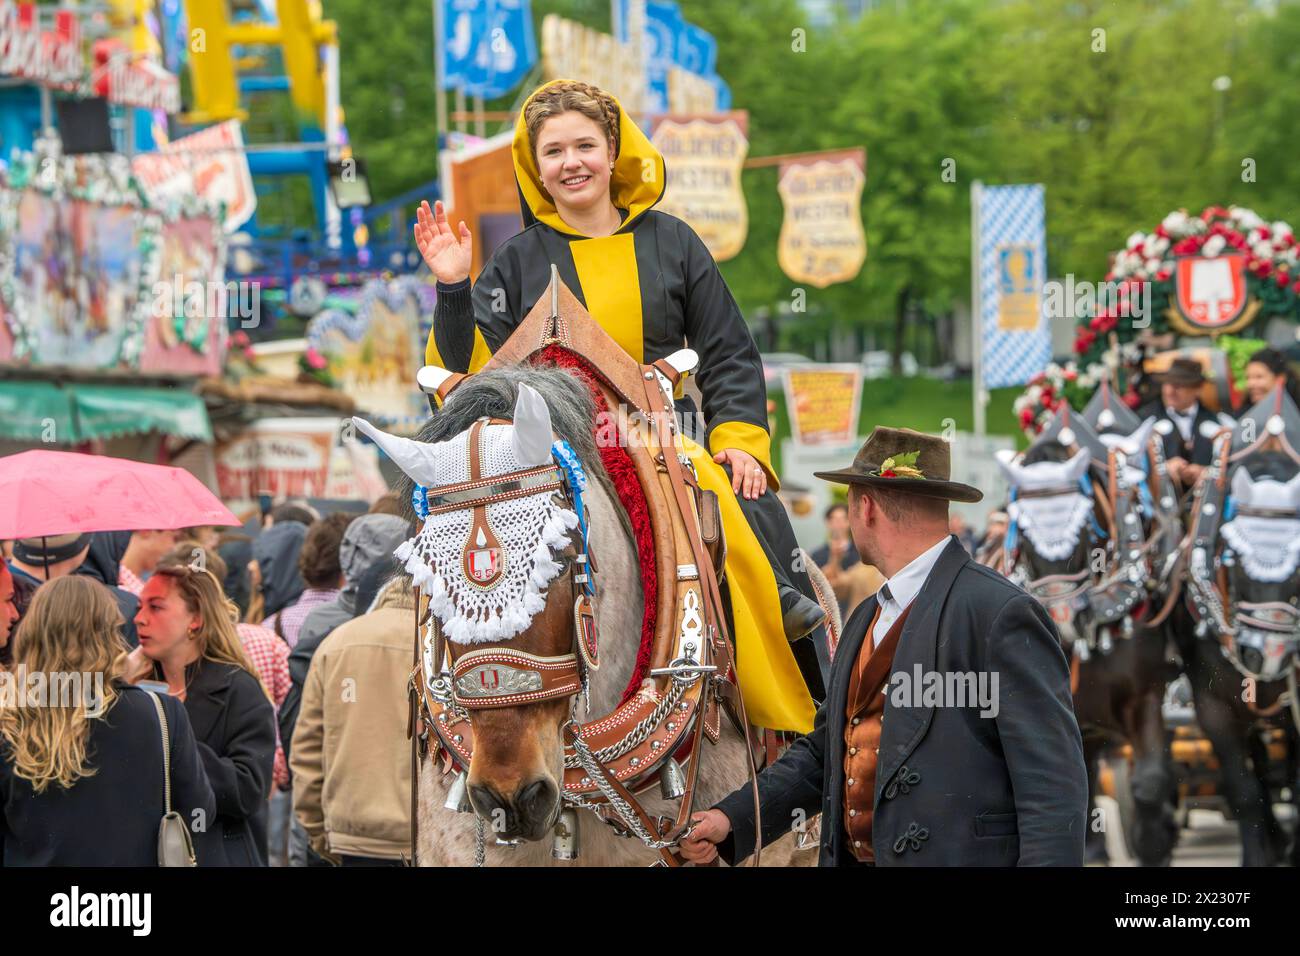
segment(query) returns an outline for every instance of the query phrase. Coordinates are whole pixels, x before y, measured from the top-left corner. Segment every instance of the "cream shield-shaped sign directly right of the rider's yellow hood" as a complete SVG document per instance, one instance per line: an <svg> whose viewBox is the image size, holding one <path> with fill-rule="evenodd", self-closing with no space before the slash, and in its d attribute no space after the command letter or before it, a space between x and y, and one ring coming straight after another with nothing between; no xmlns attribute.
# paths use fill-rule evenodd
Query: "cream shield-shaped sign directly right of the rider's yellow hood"
<svg viewBox="0 0 1300 956"><path fill-rule="evenodd" d="M749 208L741 190L748 121L745 112L668 116L655 124L650 137L668 169L658 208L688 222L718 261L740 252L749 234Z"/></svg>

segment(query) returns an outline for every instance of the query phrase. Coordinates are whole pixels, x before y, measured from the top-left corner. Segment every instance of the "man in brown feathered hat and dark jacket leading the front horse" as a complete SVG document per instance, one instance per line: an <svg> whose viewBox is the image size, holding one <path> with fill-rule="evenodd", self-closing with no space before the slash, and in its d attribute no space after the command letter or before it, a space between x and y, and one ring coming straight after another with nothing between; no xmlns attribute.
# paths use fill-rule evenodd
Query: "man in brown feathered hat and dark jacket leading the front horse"
<svg viewBox="0 0 1300 956"><path fill-rule="evenodd" d="M812 732L758 778L763 843L822 814L823 866L1083 864L1088 782L1070 669L1043 607L948 533L949 446L876 428L849 485L862 559L885 575L849 618ZM697 813L681 852L754 851L742 787Z"/></svg>

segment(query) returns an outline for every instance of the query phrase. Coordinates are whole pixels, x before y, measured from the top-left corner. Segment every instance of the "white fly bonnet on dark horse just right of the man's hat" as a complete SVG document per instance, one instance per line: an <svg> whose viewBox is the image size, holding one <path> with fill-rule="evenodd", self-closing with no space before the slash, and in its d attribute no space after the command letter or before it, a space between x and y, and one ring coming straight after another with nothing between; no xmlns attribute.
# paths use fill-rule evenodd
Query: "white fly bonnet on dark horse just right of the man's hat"
<svg viewBox="0 0 1300 956"><path fill-rule="evenodd" d="M1017 492L1074 489L1043 497L1022 494L1006 506L1008 516L1030 540L1034 550L1046 561L1069 558L1079 544L1083 525L1092 515L1092 497L1079 490L1079 479L1088 473L1089 459L1087 449L1080 449L1069 462L1019 464L1014 458L997 459L1006 480Z"/></svg>

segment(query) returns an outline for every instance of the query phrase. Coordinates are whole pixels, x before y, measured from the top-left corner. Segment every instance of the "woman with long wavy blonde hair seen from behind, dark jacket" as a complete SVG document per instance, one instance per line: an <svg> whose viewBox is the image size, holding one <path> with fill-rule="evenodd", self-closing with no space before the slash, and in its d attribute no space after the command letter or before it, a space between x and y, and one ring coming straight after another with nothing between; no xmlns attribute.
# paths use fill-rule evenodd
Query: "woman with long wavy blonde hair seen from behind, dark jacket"
<svg viewBox="0 0 1300 956"><path fill-rule="evenodd" d="M121 627L99 581L36 591L0 684L0 865L157 865L162 734L153 701L117 676ZM185 706L160 696L172 808L192 829L213 819L216 800Z"/></svg>

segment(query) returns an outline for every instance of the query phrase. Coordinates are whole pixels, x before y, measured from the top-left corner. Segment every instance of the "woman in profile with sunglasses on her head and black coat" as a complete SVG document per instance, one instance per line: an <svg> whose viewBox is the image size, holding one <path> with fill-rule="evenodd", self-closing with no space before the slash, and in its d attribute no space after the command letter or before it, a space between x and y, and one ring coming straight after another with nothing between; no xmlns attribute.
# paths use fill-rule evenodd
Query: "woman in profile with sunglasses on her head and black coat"
<svg viewBox="0 0 1300 956"><path fill-rule="evenodd" d="M135 680L185 702L216 816L195 834L200 866L265 866L276 711L235 631L237 610L211 571L159 567L140 592Z"/></svg>

